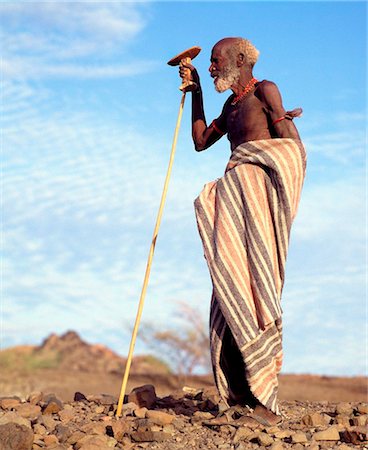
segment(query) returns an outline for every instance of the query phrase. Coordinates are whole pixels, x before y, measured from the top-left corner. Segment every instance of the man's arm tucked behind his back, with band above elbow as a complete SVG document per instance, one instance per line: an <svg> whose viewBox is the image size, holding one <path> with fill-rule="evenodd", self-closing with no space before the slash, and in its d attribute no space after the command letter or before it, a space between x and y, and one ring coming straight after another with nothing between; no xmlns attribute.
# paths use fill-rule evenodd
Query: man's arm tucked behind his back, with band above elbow
<svg viewBox="0 0 368 450"><path fill-rule="evenodd" d="M300 115L302 110L286 111L282 104L280 91L272 81L263 81L260 84L259 97L270 115L277 136L300 140L298 130L292 119Z"/></svg>

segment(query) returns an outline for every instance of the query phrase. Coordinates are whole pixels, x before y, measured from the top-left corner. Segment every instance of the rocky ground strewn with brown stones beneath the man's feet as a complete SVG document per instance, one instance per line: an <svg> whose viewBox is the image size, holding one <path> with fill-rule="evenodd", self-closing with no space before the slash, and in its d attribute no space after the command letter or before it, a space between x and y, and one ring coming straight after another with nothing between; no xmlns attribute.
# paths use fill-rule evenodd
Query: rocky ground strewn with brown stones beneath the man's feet
<svg viewBox="0 0 368 450"><path fill-rule="evenodd" d="M1 450L212 450L368 448L368 404L280 402L282 423L267 427L250 411L226 409L213 387L158 397L152 385L117 398L75 393L63 402L34 392L0 398Z"/></svg>

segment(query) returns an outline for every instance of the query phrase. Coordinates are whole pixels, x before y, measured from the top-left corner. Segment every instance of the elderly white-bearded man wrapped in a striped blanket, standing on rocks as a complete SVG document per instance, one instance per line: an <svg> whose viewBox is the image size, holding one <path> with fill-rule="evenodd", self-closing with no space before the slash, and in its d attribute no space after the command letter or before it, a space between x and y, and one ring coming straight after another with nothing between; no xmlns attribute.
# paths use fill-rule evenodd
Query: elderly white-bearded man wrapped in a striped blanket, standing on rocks
<svg viewBox="0 0 368 450"><path fill-rule="evenodd" d="M192 135L197 151L222 136L230 141L225 175L206 184L195 201L213 294L210 341L214 377L229 405L248 406L265 425L279 422L282 364L281 292L290 228L303 185L306 155L275 83L258 81L258 50L225 38L212 49L210 75L218 92L231 90L207 125L197 70L180 68L197 84Z"/></svg>

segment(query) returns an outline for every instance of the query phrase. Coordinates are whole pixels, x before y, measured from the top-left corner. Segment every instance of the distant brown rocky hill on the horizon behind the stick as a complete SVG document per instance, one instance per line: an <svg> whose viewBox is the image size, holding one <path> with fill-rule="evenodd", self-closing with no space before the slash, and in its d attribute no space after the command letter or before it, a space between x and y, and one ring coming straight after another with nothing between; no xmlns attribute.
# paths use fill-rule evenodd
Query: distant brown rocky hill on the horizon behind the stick
<svg viewBox="0 0 368 450"><path fill-rule="evenodd" d="M75 331L61 336L51 334L39 346L16 346L0 351L0 370L32 371L59 369L76 372L121 374L126 359L100 344L89 344ZM159 359L135 356L131 373L169 374L168 366Z"/></svg>

